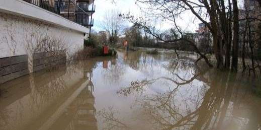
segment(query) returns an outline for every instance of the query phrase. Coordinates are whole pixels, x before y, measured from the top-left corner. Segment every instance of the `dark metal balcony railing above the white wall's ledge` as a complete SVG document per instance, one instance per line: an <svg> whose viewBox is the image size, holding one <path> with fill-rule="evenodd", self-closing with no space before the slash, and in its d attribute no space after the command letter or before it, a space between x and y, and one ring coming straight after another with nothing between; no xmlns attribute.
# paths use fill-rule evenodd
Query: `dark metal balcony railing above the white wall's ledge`
<svg viewBox="0 0 261 130"><path fill-rule="evenodd" d="M70 21L85 27L92 27L93 22L89 22L89 14L78 7L71 0L23 0L38 6L42 9L48 10L58 14ZM88 8L89 10L89 8ZM95 7L91 10L95 11Z"/></svg>

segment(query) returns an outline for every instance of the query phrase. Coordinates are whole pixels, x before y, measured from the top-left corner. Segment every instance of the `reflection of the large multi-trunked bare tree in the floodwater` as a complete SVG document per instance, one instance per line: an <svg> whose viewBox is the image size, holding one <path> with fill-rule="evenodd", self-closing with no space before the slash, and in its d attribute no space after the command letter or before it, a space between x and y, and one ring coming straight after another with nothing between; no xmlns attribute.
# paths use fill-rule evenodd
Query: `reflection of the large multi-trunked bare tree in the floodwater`
<svg viewBox="0 0 261 130"><path fill-rule="evenodd" d="M197 71L195 71L197 72ZM214 74L214 75L213 75ZM258 116L234 117L234 111L240 107L243 98L238 98L236 76L232 73L216 72L208 74L198 73L192 78L183 79L176 75L176 79L159 77L152 80L133 81L130 87L119 90L118 94L127 96L132 92L143 90L149 84L164 79L175 84L165 93L146 95L135 103L141 107L144 114L159 129L257 129L260 128L261 119ZM193 88L194 80L204 81L199 90ZM209 81L208 81L209 80ZM173 85L172 84L172 85ZM180 91L186 86L186 91ZM209 87L207 87L209 86ZM208 88L208 89L207 89ZM191 92L189 92L191 91ZM191 93L195 95L191 95ZM234 97L232 97L234 95ZM232 100L233 99L233 100ZM233 102L233 103L231 103ZM238 103L238 104L237 104ZM243 105L243 104L242 104ZM252 108L250 108L252 110ZM255 113L256 111L253 111ZM260 113L260 112L258 112ZM247 117L246 117L247 118ZM237 123L239 126L232 127Z"/></svg>

